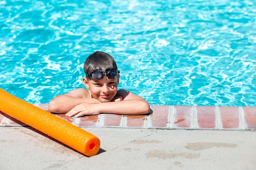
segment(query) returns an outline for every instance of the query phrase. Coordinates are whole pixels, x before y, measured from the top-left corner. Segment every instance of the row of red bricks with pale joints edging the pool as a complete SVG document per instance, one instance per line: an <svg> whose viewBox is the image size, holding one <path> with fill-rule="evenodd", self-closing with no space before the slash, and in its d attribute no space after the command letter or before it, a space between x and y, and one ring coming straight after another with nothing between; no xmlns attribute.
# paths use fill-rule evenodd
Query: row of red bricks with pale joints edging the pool
<svg viewBox="0 0 256 170"><path fill-rule="evenodd" d="M48 104L34 105L48 110ZM151 105L150 108L148 115L56 116L79 127L256 130L256 107ZM0 112L0 126L27 125Z"/></svg>

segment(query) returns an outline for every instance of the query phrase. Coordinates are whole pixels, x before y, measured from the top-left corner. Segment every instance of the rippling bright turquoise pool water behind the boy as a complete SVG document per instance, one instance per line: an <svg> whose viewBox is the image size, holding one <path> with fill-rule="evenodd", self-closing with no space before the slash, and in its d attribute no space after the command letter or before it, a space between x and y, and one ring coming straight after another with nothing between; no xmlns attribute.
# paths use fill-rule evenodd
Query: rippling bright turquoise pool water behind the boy
<svg viewBox="0 0 256 170"><path fill-rule="evenodd" d="M1 0L0 88L30 103L112 55L152 105L256 106L255 0Z"/></svg>

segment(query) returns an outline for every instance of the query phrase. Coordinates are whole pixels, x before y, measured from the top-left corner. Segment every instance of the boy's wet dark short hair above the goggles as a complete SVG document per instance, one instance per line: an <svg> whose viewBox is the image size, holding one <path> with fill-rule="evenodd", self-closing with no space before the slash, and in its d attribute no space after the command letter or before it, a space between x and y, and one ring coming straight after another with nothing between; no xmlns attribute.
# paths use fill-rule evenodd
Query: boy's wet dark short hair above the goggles
<svg viewBox="0 0 256 170"><path fill-rule="evenodd" d="M89 55L83 66L85 74L91 74L97 70L106 74L111 69L117 69L117 64L111 55L102 51L96 51ZM89 77L86 75L86 78Z"/></svg>

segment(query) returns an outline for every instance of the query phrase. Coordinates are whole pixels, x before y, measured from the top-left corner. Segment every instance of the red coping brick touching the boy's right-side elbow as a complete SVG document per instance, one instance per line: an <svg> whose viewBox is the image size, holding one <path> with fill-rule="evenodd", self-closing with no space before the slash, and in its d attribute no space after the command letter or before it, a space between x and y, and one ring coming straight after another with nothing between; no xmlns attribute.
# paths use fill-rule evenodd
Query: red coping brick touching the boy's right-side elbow
<svg viewBox="0 0 256 170"><path fill-rule="evenodd" d="M153 113L149 116L148 128L168 128L170 106L150 106Z"/></svg>

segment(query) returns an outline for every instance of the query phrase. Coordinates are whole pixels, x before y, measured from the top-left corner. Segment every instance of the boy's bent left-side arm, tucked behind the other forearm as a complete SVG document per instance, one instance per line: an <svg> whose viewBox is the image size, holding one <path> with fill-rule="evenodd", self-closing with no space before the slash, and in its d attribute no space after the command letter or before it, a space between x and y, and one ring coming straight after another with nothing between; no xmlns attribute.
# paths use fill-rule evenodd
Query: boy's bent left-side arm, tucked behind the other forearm
<svg viewBox="0 0 256 170"><path fill-rule="evenodd" d="M84 88L78 88L65 95L59 95L54 97L52 101L49 102L49 111L51 113L67 113L74 106L81 103L99 103L99 100L89 98L89 93Z"/></svg>

